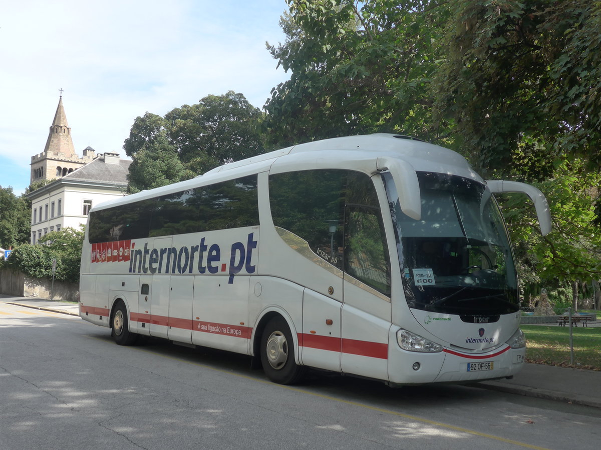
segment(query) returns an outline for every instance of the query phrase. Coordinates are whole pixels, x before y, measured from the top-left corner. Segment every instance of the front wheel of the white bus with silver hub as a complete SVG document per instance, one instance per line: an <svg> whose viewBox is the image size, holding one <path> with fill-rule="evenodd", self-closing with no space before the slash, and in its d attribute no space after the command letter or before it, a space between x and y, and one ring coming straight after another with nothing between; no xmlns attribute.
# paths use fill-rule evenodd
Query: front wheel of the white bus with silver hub
<svg viewBox="0 0 601 450"><path fill-rule="evenodd" d="M261 364L267 377L281 385L296 383L305 373L305 367L294 361L294 341L282 316L270 319L263 329Z"/></svg>

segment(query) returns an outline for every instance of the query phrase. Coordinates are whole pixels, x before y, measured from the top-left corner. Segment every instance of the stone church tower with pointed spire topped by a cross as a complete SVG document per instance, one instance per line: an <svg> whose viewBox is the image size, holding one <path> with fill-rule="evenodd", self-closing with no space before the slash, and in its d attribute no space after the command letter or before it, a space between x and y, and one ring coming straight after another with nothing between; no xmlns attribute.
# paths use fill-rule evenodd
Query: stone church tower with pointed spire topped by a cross
<svg viewBox="0 0 601 450"><path fill-rule="evenodd" d="M71 128L63 106L63 91L58 99L58 106L44 151L31 157L31 180L61 178L79 167L85 166L94 159L94 149L86 148L82 158L75 152L71 139Z"/></svg>

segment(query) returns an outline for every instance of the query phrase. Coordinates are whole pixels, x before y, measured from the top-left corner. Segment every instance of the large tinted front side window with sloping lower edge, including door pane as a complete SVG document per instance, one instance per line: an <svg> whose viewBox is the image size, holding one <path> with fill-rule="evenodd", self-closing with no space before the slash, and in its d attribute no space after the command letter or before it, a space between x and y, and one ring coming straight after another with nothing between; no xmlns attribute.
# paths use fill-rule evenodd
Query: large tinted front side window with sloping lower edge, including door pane
<svg viewBox="0 0 601 450"><path fill-rule="evenodd" d="M388 251L368 175L334 169L279 173L269 177L269 198L276 227L299 236L337 268L389 294ZM293 248L298 245L285 240Z"/></svg>

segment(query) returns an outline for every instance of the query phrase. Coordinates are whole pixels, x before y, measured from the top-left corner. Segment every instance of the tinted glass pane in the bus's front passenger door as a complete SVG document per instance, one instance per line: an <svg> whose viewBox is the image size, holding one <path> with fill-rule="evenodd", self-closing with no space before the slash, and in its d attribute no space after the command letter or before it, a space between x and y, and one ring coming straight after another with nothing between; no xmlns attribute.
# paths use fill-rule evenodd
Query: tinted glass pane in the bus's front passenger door
<svg viewBox="0 0 601 450"><path fill-rule="evenodd" d="M390 260L380 212L347 206L344 236L344 271L373 289L390 295Z"/></svg>

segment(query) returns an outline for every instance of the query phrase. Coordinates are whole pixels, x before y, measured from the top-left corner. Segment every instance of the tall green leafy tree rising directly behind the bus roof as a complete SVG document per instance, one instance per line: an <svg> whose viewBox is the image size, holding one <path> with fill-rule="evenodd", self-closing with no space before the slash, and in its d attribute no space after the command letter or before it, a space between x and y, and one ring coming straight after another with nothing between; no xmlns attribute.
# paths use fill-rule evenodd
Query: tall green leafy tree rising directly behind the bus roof
<svg viewBox="0 0 601 450"><path fill-rule="evenodd" d="M288 0L284 44L267 45L290 80L265 106L269 142L387 131L448 137L432 115L431 84L445 2Z"/></svg>

